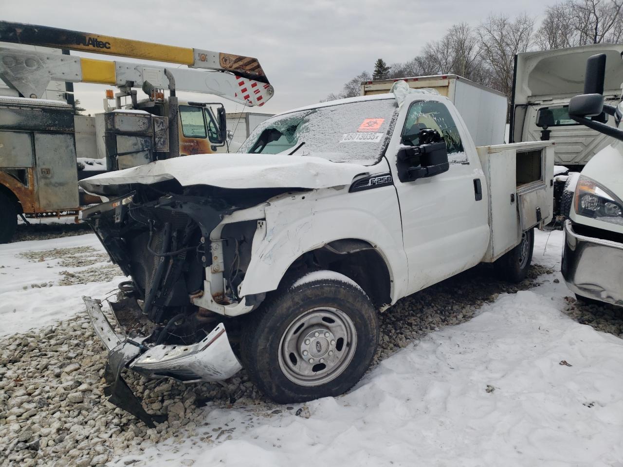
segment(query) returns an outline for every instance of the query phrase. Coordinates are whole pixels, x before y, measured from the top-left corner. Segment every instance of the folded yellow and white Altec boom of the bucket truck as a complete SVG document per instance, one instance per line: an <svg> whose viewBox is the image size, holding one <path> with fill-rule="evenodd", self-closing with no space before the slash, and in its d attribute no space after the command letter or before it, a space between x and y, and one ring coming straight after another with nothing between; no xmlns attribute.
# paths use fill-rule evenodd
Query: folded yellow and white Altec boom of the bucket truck
<svg viewBox="0 0 623 467"><path fill-rule="evenodd" d="M167 67L177 89L214 94L248 106L264 105L273 95L264 70L252 57L6 21L0 21L0 42L188 65ZM42 95L50 80L134 88L145 82L166 88L169 83L164 67L157 64L110 62L6 47L0 47L0 79L33 98Z"/></svg>

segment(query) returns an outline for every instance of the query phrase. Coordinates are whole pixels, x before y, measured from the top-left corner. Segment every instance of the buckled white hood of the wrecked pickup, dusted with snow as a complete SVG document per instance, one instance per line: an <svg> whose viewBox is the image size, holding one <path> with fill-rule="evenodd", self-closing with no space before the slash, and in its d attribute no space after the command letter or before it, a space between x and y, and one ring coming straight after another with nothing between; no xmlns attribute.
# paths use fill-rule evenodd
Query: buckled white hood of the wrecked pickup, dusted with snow
<svg viewBox="0 0 623 467"><path fill-rule="evenodd" d="M351 184L370 167L335 163L314 156L287 154L194 154L143 166L98 174L78 182L93 194L110 194L114 187L153 184L176 179L182 186L222 188L328 188Z"/></svg>

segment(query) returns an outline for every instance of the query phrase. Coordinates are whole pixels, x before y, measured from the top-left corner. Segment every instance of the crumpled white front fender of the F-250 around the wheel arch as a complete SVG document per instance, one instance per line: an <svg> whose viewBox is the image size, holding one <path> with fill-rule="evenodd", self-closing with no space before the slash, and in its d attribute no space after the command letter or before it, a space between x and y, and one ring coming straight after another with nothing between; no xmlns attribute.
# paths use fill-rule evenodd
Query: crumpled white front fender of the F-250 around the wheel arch
<svg viewBox="0 0 623 467"><path fill-rule="evenodd" d="M285 194L265 207L252 258L239 295L275 290L290 265L305 252L343 238L364 240L381 254L391 278L392 303L407 287L400 212L393 186L356 193L344 189Z"/></svg>

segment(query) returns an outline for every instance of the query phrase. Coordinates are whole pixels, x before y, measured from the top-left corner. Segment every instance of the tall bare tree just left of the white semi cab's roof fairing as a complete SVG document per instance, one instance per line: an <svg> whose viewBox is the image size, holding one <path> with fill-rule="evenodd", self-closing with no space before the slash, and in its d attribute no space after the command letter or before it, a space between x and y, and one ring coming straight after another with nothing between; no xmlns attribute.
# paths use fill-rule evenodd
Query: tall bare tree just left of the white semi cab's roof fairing
<svg viewBox="0 0 623 467"><path fill-rule="evenodd" d="M511 21L507 16L489 16L477 29L480 57L492 72L489 85L510 96L515 54L533 43L535 21L523 14Z"/></svg>

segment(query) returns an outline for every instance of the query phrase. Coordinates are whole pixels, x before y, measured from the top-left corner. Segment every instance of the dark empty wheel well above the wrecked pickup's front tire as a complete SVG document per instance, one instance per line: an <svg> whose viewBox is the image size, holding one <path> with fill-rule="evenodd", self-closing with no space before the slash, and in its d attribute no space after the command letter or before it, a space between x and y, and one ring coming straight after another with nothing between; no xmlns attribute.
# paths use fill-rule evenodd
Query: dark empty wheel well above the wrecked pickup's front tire
<svg viewBox="0 0 623 467"><path fill-rule="evenodd" d="M282 281L318 268L336 271L354 280L377 309L391 303L387 264L378 250L364 240L336 240L303 253L290 265Z"/></svg>

